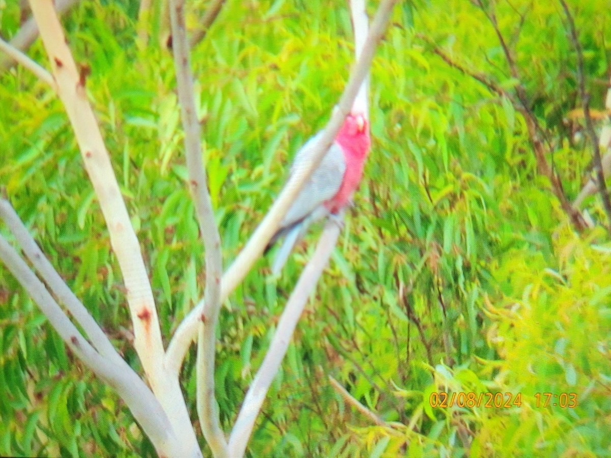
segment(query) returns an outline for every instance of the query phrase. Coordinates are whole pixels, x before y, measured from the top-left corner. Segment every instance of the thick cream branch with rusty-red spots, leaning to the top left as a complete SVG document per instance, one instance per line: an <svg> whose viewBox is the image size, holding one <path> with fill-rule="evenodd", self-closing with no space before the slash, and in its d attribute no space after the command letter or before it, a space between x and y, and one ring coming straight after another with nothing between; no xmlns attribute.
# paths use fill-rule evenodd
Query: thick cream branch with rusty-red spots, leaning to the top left
<svg viewBox="0 0 611 458"><path fill-rule="evenodd" d="M153 393L181 443L190 449L189 456L201 456L180 384L177 378L168 376L170 371L164 366L163 341L147 270L100 128L87 100L84 75L79 75L76 68L53 2L30 0L30 5L123 274L136 352Z"/></svg>

